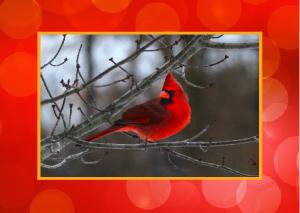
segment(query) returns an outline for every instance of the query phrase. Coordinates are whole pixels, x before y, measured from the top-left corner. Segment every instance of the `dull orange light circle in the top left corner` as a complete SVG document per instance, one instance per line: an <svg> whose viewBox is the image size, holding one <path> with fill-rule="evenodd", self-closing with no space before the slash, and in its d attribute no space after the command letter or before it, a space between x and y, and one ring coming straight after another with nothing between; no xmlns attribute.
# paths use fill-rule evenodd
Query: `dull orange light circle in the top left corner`
<svg viewBox="0 0 300 213"><path fill-rule="evenodd" d="M41 22L41 8L33 0L4 0L0 5L0 29L12 38L29 37Z"/></svg>

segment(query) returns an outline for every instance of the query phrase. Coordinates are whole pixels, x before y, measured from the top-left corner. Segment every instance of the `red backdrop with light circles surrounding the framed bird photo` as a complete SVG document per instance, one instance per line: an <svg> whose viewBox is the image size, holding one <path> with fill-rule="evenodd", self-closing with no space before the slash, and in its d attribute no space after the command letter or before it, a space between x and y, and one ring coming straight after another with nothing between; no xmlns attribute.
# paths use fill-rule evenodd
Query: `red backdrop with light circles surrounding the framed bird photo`
<svg viewBox="0 0 300 213"><path fill-rule="evenodd" d="M298 212L298 16L297 0L0 0L0 212ZM37 31L262 31L263 180L38 181Z"/></svg>

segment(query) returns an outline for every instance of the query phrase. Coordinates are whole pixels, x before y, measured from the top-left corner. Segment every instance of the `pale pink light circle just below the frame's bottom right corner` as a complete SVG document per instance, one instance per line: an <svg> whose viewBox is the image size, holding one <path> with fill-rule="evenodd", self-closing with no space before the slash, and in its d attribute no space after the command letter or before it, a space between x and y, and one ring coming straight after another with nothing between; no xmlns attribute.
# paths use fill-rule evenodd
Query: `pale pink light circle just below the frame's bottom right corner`
<svg viewBox="0 0 300 213"><path fill-rule="evenodd" d="M242 186L246 185L246 186ZM241 183L246 188L243 197L237 194L238 207L243 213L273 213L281 203L281 191L277 183L268 176L263 180L249 180Z"/></svg>

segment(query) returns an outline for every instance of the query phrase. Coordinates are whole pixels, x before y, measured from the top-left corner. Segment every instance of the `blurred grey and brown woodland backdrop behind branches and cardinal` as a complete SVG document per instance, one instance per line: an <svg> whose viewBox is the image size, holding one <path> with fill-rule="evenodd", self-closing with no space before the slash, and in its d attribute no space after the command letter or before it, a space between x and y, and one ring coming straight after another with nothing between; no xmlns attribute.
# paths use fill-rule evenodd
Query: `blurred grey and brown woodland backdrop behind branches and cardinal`
<svg viewBox="0 0 300 213"><path fill-rule="evenodd" d="M172 44L178 40L180 35L166 36L163 41ZM106 68L113 65L109 60L113 58L118 62L136 50L138 35L67 35L64 46L53 64L59 64L68 60L61 66L48 66L41 72L53 96L62 94L65 88L61 80L70 82L75 80L76 58L79 54L80 71L86 81L98 75ZM188 38L187 38L188 39ZM62 35L41 35L41 58L43 65L48 62L57 52L61 44ZM144 43L150 39L145 38ZM178 53L184 46L184 40L174 46L174 54ZM218 42L252 42L258 41L257 35L223 35L214 41ZM143 43L143 44L144 44ZM149 49L160 48L156 43ZM142 53L136 60L132 60L123 67L130 72L136 81L140 81L155 71L165 62L168 51L148 51ZM220 61L227 55L229 58L215 66L203 67ZM184 83L179 75L175 77L181 82L186 90L192 108L191 123L180 133L165 139L164 141L175 141L190 138L206 125L216 120L208 131L196 141L209 140L230 140L258 136L259 133L259 52L258 49L203 49L188 62L185 62L186 77L192 83L206 86L213 83L209 89L199 90ZM115 69L104 78L96 81L89 91L83 91L82 97L89 100L91 97L100 109L104 109L112 101L120 97L130 89L131 82L120 82L107 87L98 87L115 80L126 77L121 69ZM80 82L82 83L82 82ZM163 79L153 84L151 89L140 95L131 106L145 102L159 94ZM41 100L48 99L44 86L41 84ZM57 102L59 105L62 101ZM82 109L85 115L90 115L97 110L86 105L77 95L66 99L64 115L69 115L69 104L73 104L71 124L77 125L85 120L84 115L77 110ZM52 104L41 106L41 137L45 138L51 134L56 123L53 114ZM99 127L99 130L107 128L108 125ZM55 134L64 130L60 121ZM100 141L108 143L136 143L133 139L122 133L114 133ZM80 147L68 147L52 159L47 160L48 164L58 163L60 159L70 153L82 150ZM258 144L245 144L238 146L227 146L209 148L207 152L200 148L177 148L184 154L201 159L207 162L222 164L240 172L258 175ZM93 165L83 164L80 160L73 160L60 168L51 170L42 168L42 176L68 176L68 177L198 177L198 176L232 176L231 173L194 165L189 161L176 159L161 153L158 150L145 151L96 151L85 156L86 160L98 160Z"/></svg>

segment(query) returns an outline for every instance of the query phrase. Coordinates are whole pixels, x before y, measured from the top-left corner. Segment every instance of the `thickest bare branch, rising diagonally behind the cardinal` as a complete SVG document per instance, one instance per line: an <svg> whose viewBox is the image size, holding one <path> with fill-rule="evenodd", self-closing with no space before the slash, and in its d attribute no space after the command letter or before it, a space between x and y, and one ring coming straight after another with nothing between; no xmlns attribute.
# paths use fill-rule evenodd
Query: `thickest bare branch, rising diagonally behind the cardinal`
<svg viewBox="0 0 300 213"><path fill-rule="evenodd" d="M201 42L210 39L211 35L200 35L200 36L194 36L190 42L187 43L187 45L182 49L181 52L179 52L172 60L167 61L165 64L163 64L159 69L157 69L156 72L142 80L138 83L136 87L129 90L127 93L125 93L123 96L121 96L119 99L115 100L113 103L111 103L103 112L98 112L91 116L89 120L85 120L81 124L77 125L74 128L71 128L70 130L66 130L65 132L55 136L55 137L48 137L42 140L42 143L50 143L53 141L60 141L61 142L61 148L68 145L71 140L68 138L69 136L82 138L88 135L93 130L97 129L101 124L107 121L114 120L116 115L118 113L123 112L126 107L142 92L144 92L146 89L150 88L151 85L157 81L158 79L162 78L164 75L166 75L168 72L173 70L174 67L176 67L178 64L181 64L188 59L190 59L194 54L196 54L202 47ZM149 45L149 43L148 43ZM146 46L146 45L145 45ZM145 48L145 46L143 48ZM142 49L142 48L141 48ZM135 54L132 54L132 56ZM128 59L130 59L129 57ZM121 61L122 63L125 63L125 61ZM119 62L120 63L120 62ZM120 64L118 64L119 66ZM114 65L116 66L116 65ZM116 67L118 67L116 66ZM116 68L115 67L115 68ZM108 70L110 70L109 68ZM107 71L107 70L106 70ZM105 72L106 72L105 71ZM99 77L99 75L98 75ZM53 100L52 100L53 101ZM41 158L42 160L47 159L50 157L53 153L51 152L53 149L43 149L41 150Z"/></svg>

